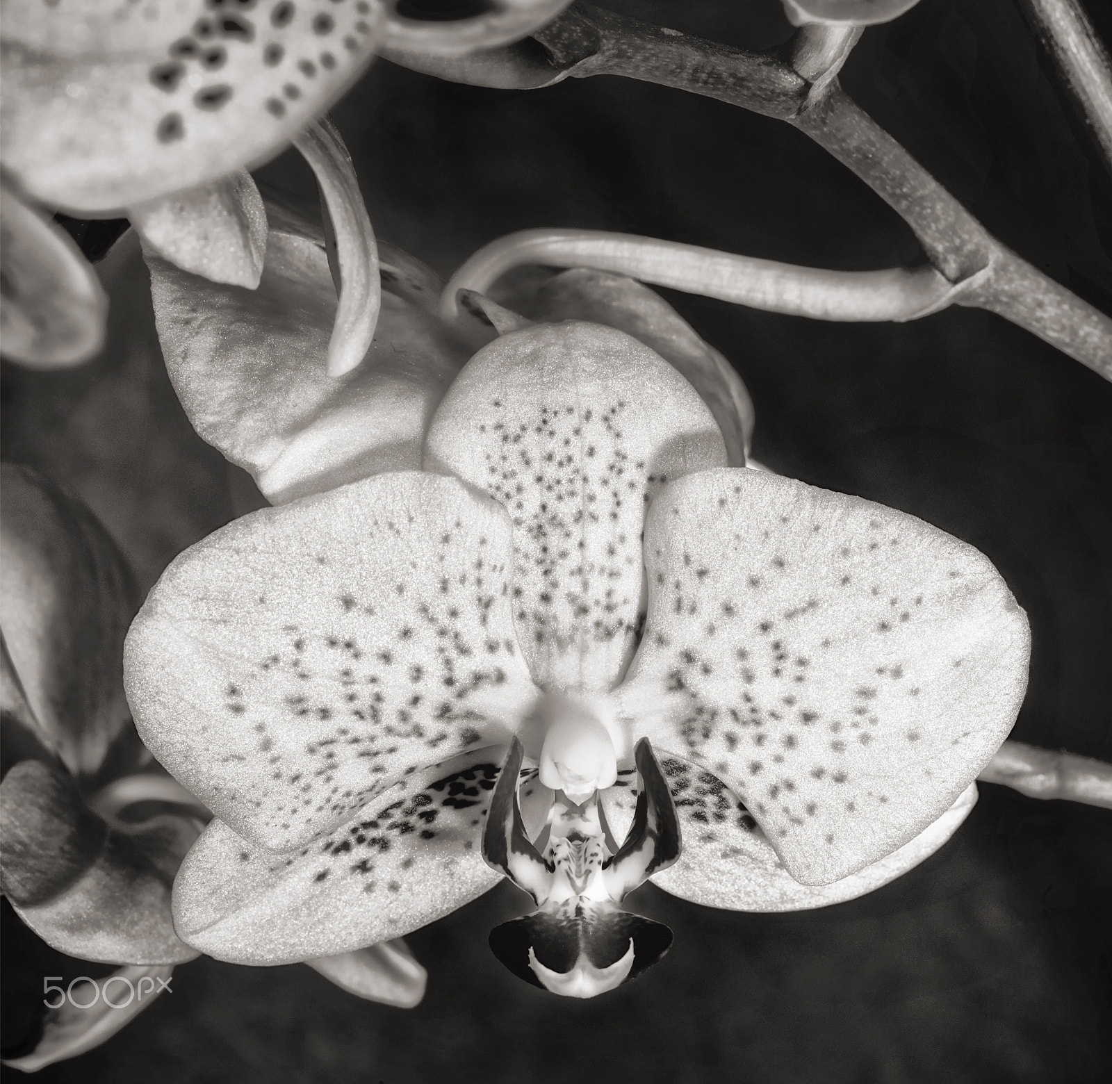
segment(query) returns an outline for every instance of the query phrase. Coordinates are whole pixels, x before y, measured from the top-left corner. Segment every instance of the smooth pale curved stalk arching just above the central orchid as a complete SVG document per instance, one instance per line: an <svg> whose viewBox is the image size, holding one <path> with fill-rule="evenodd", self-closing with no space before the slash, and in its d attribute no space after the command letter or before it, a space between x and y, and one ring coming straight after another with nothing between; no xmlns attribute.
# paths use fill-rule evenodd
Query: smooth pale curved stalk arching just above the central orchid
<svg viewBox="0 0 1112 1084"><path fill-rule="evenodd" d="M732 256L695 245L599 230L522 230L487 245L451 277L441 314L455 319L461 289L483 294L515 267L592 267L771 312L822 320L911 320L947 304L931 267L828 271Z"/></svg>

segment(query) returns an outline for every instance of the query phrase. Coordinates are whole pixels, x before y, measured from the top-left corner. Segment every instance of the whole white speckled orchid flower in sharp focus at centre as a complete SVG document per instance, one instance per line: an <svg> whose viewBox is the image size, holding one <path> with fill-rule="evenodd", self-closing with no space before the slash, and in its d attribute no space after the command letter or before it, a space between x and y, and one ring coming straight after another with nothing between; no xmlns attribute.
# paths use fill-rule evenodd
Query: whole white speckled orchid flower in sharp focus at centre
<svg viewBox="0 0 1112 1084"><path fill-rule="evenodd" d="M181 936L338 953L508 874L540 917L499 956L588 996L667 947L619 906L645 877L793 909L940 846L1026 680L989 561L728 467L704 400L624 331L487 311L509 330L451 384L421 471L237 520L132 625L140 730L216 814Z"/></svg>

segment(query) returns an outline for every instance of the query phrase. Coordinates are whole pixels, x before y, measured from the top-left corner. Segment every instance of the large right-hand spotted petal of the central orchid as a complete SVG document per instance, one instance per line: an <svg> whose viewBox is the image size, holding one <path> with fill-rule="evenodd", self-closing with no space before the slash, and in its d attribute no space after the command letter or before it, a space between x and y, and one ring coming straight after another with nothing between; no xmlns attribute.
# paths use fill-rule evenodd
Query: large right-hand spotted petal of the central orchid
<svg viewBox="0 0 1112 1084"><path fill-rule="evenodd" d="M926 829L1015 720L1025 616L982 554L922 520L707 471L659 495L645 551L623 710L721 776L803 884Z"/></svg>

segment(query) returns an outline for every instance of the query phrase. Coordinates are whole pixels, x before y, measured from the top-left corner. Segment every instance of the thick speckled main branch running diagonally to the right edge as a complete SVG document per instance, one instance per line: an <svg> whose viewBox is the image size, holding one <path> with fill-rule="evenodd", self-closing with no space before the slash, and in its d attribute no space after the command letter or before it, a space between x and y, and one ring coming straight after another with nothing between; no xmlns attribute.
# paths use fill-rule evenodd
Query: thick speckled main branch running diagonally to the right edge
<svg viewBox="0 0 1112 1084"><path fill-rule="evenodd" d="M815 66L803 47L813 31L802 33L794 60L810 73ZM818 83L784 59L793 47L783 54L748 52L582 3L535 37L565 74L625 76L788 121L906 220L952 285L951 301L996 312L1112 380L1112 318L993 238L836 80L816 93Z"/></svg>

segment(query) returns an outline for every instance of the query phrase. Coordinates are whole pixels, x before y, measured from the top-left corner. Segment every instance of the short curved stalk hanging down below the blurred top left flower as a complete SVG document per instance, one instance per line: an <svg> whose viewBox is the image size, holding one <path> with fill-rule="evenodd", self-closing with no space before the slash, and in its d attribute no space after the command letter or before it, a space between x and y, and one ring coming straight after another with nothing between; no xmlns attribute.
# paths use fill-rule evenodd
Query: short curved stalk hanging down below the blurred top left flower
<svg viewBox="0 0 1112 1084"><path fill-rule="evenodd" d="M351 156L332 122L327 117L314 121L294 145L316 175L335 236L340 287L328 375L341 377L366 357L375 336L381 299L378 248Z"/></svg>

